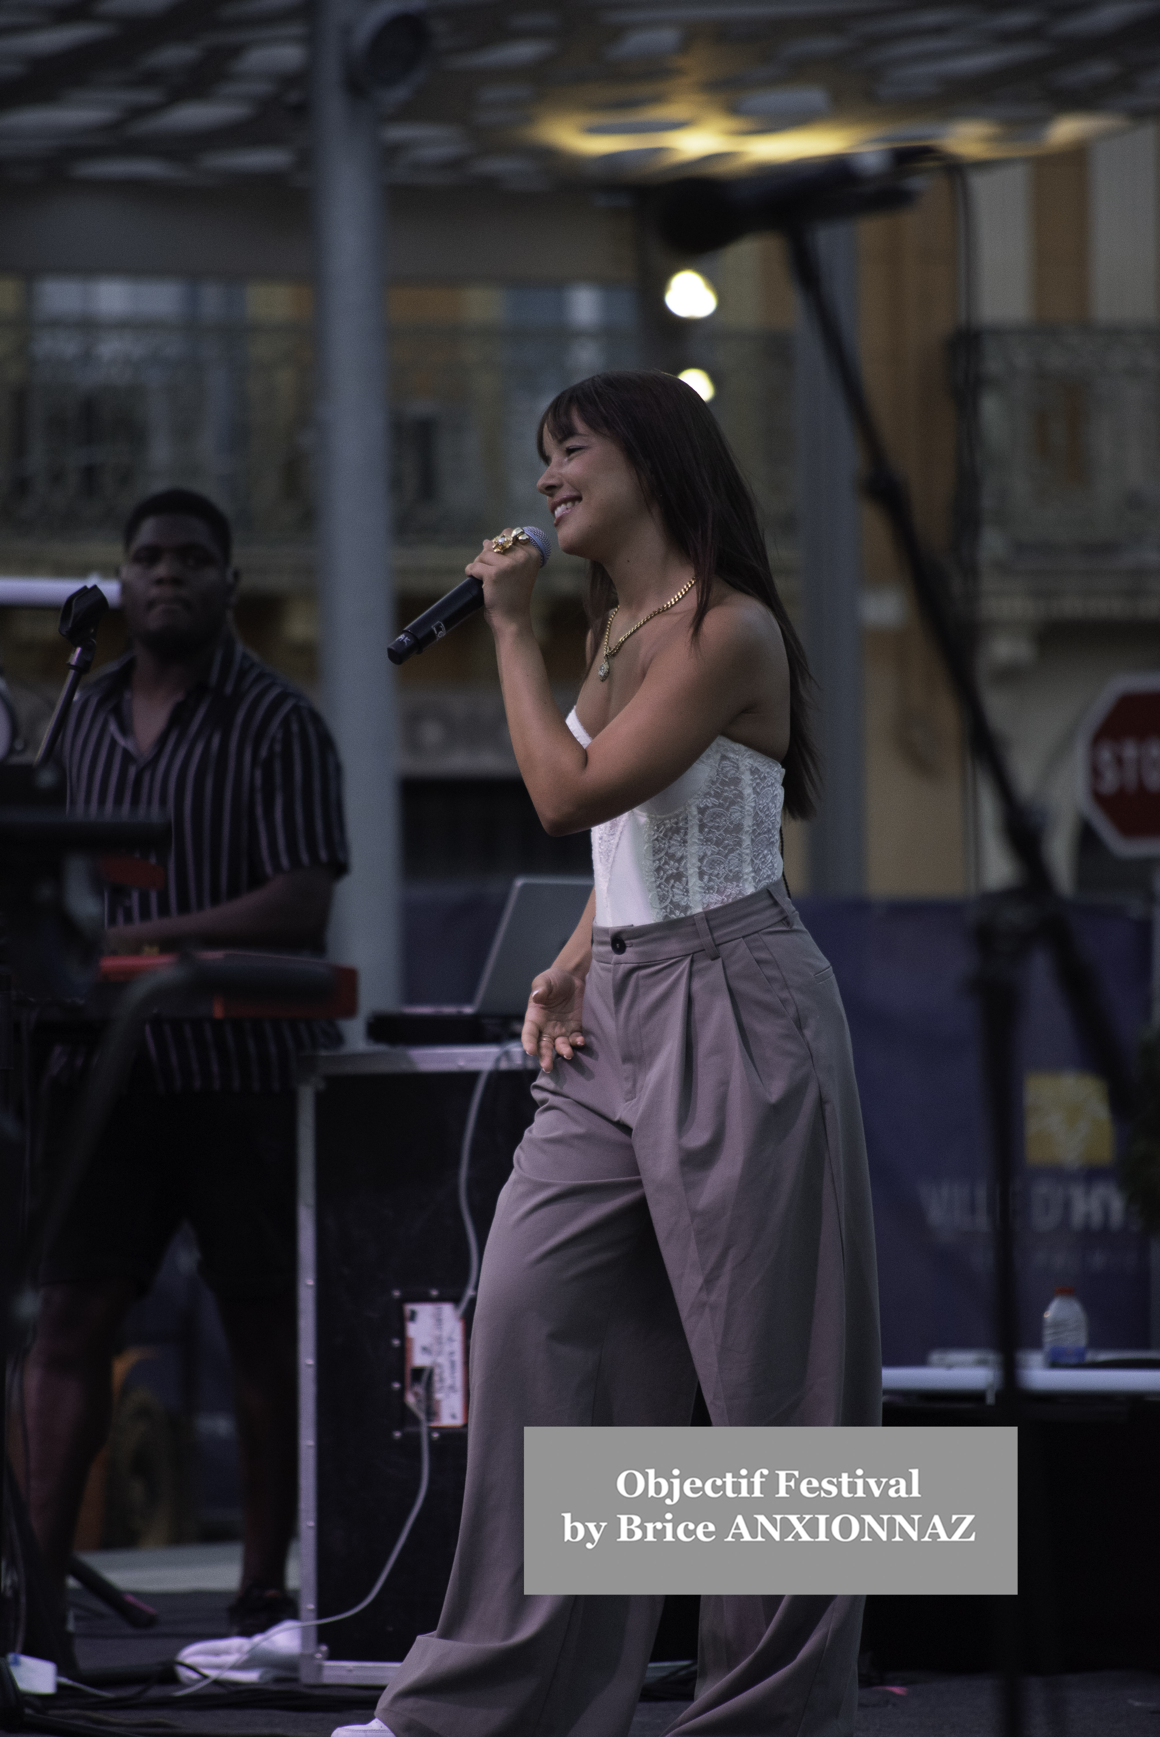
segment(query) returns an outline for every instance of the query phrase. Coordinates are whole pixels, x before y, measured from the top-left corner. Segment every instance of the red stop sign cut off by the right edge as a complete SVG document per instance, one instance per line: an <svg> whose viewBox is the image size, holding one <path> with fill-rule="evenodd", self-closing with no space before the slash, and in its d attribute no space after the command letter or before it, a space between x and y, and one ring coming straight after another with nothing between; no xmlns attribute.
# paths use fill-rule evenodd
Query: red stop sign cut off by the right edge
<svg viewBox="0 0 1160 1737"><path fill-rule="evenodd" d="M1160 674L1117 676L1087 714L1078 802L1117 856L1160 856Z"/></svg>

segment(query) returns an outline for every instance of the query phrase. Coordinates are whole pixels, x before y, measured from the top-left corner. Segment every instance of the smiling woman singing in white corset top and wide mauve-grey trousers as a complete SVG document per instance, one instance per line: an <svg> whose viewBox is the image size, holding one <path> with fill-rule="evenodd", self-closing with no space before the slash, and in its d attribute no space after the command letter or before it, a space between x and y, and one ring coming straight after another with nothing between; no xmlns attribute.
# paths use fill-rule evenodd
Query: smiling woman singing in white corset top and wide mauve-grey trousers
<svg viewBox="0 0 1160 1737"><path fill-rule="evenodd" d="M537 1117L488 1237L467 1489L443 1615L379 1704L394 1737L625 1737L660 1598L524 1596L524 1424L880 1423L873 1226L834 973L781 875L813 813L802 646L717 424L603 373L540 424L589 566L568 721L531 631L535 549L471 563L545 829L596 889L531 987ZM853 1732L861 1598L702 1598L682 1737ZM370 1728L380 1728L375 1721Z"/></svg>

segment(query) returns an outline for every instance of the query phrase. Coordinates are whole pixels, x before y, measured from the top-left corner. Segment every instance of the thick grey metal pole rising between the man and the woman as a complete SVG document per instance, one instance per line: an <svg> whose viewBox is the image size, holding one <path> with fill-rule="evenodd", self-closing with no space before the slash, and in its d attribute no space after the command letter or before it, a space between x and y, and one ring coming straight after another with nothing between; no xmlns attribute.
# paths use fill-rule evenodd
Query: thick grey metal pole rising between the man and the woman
<svg viewBox="0 0 1160 1737"><path fill-rule="evenodd" d="M314 332L318 615L323 712L346 776L351 875L330 954L358 966L361 1011L394 1007L399 822L387 495L384 179L379 116L346 73L349 0L314 0Z"/></svg>

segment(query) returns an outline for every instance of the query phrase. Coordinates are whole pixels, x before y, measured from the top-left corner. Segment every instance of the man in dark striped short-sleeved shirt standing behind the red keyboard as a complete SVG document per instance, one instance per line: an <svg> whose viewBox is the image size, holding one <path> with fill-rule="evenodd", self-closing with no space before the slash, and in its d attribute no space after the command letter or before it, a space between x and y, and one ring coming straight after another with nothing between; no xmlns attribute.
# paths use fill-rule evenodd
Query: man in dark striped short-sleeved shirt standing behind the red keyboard
<svg viewBox="0 0 1160 1737"><path fill-rule="evenodd" d="M165 809L161 891L122 893L106 947L321 950L347 868L342 775L325 723L236 639L226 516L189 490L125 526L130 651L82 690L63 742L73 809ZM156 1020L69 1216L47 1251L30 1353L28 1496L61 1598L89 1468L111 1421L111 1357L170 1238L193 1226L234 1372L243 1494L236 1633L293 1614L297 1506L293 1077L325 1021ZM57 1056L50 1127L83 1060ZM50 1186L52 1138L45 1185Z"/></svg>

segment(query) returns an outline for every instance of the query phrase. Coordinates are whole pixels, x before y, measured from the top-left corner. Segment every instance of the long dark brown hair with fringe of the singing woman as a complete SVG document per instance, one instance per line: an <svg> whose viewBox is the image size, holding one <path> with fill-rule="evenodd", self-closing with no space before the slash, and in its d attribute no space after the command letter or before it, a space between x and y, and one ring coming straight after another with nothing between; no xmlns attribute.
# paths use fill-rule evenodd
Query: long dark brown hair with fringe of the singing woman
<svg viewBox="0 0 1160 1737"><path fill-rule="evenodd" d="M705 401L672 373L616 370L594 373L559 393L540 417L537 446L547 464L544 434L563 441L583 422L613 439L632 466L662 523L696 575L691 634L702 629L712 582L722 578L757 598L774 617L790 664L790 747L785 756L785 811L809 820L816 811L820 768L811 730L814 679L806 648L778 596L769 570L757 502L729 443ZM616 603L616 589L599 561L589 561L585 610L599 629Z"/></svg>

